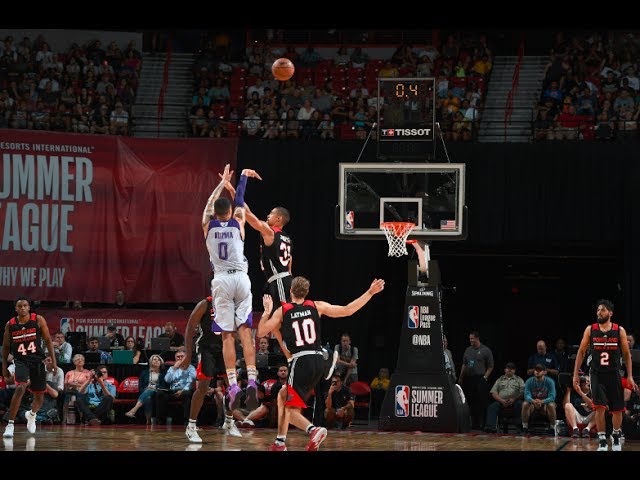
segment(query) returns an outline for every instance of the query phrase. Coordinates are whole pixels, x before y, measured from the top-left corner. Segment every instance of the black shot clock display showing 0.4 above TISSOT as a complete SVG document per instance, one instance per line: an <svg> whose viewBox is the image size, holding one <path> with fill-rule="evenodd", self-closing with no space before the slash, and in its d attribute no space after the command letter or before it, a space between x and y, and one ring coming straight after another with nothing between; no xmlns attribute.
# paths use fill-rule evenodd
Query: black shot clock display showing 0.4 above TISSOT
<svg viewBox="0 0 640 480"><path fill-rule="evenodd" d="M379 78L378 140L427 142L434 139L435 79Z"/></svg>

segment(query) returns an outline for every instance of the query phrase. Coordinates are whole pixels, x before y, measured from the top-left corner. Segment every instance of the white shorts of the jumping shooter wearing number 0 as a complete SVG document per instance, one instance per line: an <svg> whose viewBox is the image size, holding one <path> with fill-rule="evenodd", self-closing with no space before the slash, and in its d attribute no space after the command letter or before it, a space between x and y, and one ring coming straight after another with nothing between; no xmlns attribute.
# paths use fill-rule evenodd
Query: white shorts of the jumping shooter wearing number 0
<svg viewBox="0 0 640 480"><path fill-rule="evenodd" d="M251 327L253 297L251 280L246 272L216 273L211 282L211 296L215 309L214 328L235 332L240 325Z"/></svg>

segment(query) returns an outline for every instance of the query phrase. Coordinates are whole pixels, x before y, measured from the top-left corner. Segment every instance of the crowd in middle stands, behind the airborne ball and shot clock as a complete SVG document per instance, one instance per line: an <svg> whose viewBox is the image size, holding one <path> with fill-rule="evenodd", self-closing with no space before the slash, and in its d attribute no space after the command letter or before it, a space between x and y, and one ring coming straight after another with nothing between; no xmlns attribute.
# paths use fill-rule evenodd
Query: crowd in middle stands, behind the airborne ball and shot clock
<svg viewBox="0 0 640 480"><path fill-rule="evenodd" d="M277 58L294 76L278 81ZM492 68L487 38L449 35L444 44L400 45L391 58L371 58L366 47L341 46L324 58L313 46L256 43L231 61L213 42L194 66L189 115L194 137L364 139L377 122L378 77L436 78L436 121L446 140L471 140ZM384 116L384 110L382 111Z"/></svg>

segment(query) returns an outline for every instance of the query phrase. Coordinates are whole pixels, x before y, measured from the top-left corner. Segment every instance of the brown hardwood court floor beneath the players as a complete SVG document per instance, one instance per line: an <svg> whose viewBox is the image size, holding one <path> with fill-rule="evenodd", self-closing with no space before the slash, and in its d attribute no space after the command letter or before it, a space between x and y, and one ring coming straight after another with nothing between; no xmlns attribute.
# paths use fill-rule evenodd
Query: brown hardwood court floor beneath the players
<svg viewBox="0 0 640 480"><path fill-rule="evenodd" d="M25 425L16 425L15 436L3 438L0 448L7 451L266 451L274 441L274 429L242 429L243 438L224 435L214 427L199 431L203 444L191 444L184 427L115 425L101 427L45 426L34 435ZM308 437L297 429L289 431L289 451L304 450ZM480 433L382 432L377 430L330 430L321 451L334 452L580 452L595 451L595 439L567 437L500 435ZM640 452L640 442L627 440L623 451Z"/></svg>

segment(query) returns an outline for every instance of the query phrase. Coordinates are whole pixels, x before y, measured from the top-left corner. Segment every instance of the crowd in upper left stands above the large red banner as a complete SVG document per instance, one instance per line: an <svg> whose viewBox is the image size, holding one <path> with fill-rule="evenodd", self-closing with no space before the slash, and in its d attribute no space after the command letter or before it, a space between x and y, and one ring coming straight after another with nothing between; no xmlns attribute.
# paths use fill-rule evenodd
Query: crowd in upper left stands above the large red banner
<svg viewBox="0 0 640 480"><path fill-rule="evenodd" d="M43 35L0 39L0 128L130 134L142 62L131 41L52 51Z"/></svg>

